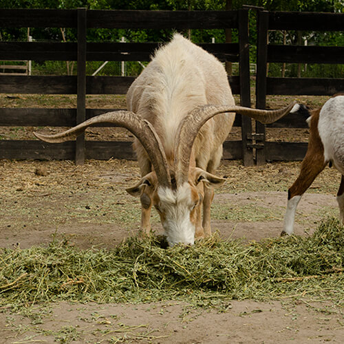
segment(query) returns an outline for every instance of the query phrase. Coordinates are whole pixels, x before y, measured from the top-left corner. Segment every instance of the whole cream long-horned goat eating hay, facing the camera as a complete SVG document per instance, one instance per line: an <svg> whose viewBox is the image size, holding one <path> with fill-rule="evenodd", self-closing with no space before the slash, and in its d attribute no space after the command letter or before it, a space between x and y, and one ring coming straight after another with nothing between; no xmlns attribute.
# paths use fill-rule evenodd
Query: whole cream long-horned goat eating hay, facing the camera
<svg viewBox="0 0 344 344"><path fill-rule="evenodd" d="M142 175L127 191L140 197L142 232L150 233L154 206L170 246L193 244L195 236L211 235L213 187L224 182L213 173L235 112L274 122L291 107L265 111L235 106L222 63L175 34L129 88L128 111L96 116L53 136L36 136L63 142L94 123L127 128L136 136L134 149Z"/></svg>

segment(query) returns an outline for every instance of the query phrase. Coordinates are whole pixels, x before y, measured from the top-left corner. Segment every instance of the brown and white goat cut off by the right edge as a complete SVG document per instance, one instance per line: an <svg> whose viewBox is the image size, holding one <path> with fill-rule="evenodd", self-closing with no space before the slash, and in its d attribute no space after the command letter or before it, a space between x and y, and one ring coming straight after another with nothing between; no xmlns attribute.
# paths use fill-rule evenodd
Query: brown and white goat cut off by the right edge
<svg viewBox="0 0 344 344"><path fill-rule="evenodd" d="M321 109L309 112L303 105L296 104L291 112L310 115L307 120L310 137L299 177L288 190L288 204L281 235L293 233L295 212L303 193L329 162L334 164L342 175L337 202L344 224L344 94L330 98Z"/></svg>

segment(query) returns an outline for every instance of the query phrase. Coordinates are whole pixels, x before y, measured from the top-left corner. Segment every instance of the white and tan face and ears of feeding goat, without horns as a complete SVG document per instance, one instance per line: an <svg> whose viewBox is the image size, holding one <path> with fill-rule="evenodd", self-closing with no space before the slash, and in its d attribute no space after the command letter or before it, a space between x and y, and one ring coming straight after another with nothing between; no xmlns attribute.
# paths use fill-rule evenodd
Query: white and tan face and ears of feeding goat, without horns
<svg viewBox="0 0 344 344"><path fill-rule="evenodd" d="M180 184L171 173L171 185L166 186L153 171L144 175L127 192L140 197L143 211L150 211L152 206L156 209L169 246L178 243L192 245L195 241L197 213L201 211L204 198L203 188L217 187L224 181L202 169L191 168L187 181Z"/></svg>

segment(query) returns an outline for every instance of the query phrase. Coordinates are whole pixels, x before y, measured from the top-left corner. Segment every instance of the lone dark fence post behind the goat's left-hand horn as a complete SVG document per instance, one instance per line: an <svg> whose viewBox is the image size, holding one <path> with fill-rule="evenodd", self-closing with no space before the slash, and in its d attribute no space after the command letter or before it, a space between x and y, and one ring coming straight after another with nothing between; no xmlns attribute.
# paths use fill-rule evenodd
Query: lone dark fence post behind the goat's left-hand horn
<svg viewBox="0 0 344 344"><path fill-rule="evenodd" d="M78 8L78 75L76 125L86 119L86 8ZM75 163L85 162L85 133L76 138Z"/></svg>

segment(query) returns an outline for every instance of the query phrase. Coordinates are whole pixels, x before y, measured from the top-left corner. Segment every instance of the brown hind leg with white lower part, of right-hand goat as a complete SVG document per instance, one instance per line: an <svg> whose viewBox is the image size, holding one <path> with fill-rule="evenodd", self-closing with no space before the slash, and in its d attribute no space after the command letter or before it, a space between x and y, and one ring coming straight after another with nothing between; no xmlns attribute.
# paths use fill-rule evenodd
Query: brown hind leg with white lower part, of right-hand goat
<svg viewBox="0 0 344 344"><path fill-rule="evenodd" d="M294 219L303 193L310 187L314 179L325 168L323 154L307 151L301 164L301 171L297 180L288 190L288 204L284 215L283 230L281 235L290 235L294 232Z"/></svg>

